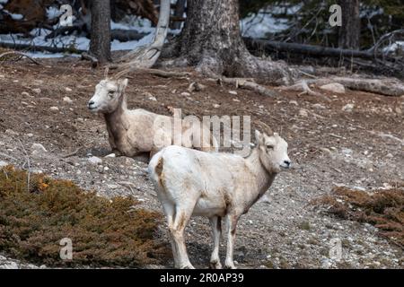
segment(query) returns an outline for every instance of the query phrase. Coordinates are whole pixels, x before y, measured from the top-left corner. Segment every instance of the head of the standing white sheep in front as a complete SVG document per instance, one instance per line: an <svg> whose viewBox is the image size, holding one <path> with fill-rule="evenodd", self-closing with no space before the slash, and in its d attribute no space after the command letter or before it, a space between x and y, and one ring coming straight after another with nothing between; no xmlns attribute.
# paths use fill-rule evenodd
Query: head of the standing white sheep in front
<svg viewBox="0 0 404 287"><path fill-rule="evenodd" d="M270 133L272 134L272 133ZM280 172L291 167L291 161L287 155L287 143L277 133L267 135L255 131L259 160L268 172Z"/></svg>

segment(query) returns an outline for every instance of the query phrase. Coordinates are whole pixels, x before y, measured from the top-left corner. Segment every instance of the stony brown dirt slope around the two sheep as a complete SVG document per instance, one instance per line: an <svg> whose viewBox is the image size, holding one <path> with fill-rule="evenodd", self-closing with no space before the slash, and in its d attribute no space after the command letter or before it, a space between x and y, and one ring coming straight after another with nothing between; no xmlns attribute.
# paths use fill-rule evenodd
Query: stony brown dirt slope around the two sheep
<svg viewBox="0 0 404 287"><path fill-rule="evenodd" d="M103 118L86 108L102 72L71 58L42 63L0 65L0 163L27 169L29 158L33 171L72 179L104 196L133 195L146 208L160 210L145 162L105 158L110 146ZM206 90L187 91L192 82L205 84ZM183 116L250 116L289 143L294 168L280 173L239 223L235 247L239 267L402 268L403 250L379 237L373 226L330 217L310 202L336 186L373 190L402 183L404 98L360 91L343 95L321 91L325 96L321 98L297 93L269 98L196 74L188 78L131 74L127 88L131 109L171 115L168 107L172 107L182 109ZM353 109L343 109L347 104ZM42 144L47 152L33 151L33 143ZM66 157L72 152L76 153ZM88 161L91 156L102 162L93 164ZM208 266L209 234L206 219L192 219L187 245L191 262L200 268ZM168 240L165 226L159 236ZM329 258L335 239L342 242L339 260ZM222 240L222 258L224 251ZM4 254L2 264L35 267ZM167 262L152 267L171 266Z"/></svg>

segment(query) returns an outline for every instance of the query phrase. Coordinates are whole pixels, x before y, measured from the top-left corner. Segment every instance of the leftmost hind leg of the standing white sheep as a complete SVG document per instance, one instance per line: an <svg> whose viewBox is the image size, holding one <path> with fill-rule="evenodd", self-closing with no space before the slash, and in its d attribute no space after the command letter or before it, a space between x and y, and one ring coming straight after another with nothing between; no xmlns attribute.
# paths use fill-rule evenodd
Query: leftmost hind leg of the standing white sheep
<svg viewBox="0 0 404 287"><path fill-rule="evenodd" d="M193 206L192 206L193 207ZM174 221L169 226L171 238L173 239L173 250L176 252L177 262L176 267L180 269L195 269L189 262L187 248L184 240L184 230L192 215L192 209L187 209L185 206L176 206Z"/></svg>

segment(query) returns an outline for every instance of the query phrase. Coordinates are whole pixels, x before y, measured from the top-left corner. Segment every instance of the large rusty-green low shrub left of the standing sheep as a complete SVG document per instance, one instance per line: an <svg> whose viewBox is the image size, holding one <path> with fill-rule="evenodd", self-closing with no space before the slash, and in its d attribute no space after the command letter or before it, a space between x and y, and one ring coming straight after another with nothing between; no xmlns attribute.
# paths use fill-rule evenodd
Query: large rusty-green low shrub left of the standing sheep
<svg viewBox="0 0 404 287"><path fill-rule="evenodd" d="M55 266L158 264L169 249L154 239L159 213L131 197L112 199L8 166L0 170L0 251ZM59 257L60 239L73 241L73 260Z"/></svg>

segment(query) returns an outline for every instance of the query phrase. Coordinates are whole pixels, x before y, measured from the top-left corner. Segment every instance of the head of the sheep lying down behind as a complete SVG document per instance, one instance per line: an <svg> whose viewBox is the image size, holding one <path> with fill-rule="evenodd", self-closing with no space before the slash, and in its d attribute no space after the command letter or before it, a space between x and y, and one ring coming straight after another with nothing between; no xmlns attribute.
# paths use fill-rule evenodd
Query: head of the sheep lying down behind
<svg viewBox="0 0 404 287"><path fill-rule="evenodd" d="M111 113L118 109L123 94L127 87L127 79L108 79L101 80L95 86L95 92L92 99L88 101L87 107L93 112L104 114Z"/></svg>

